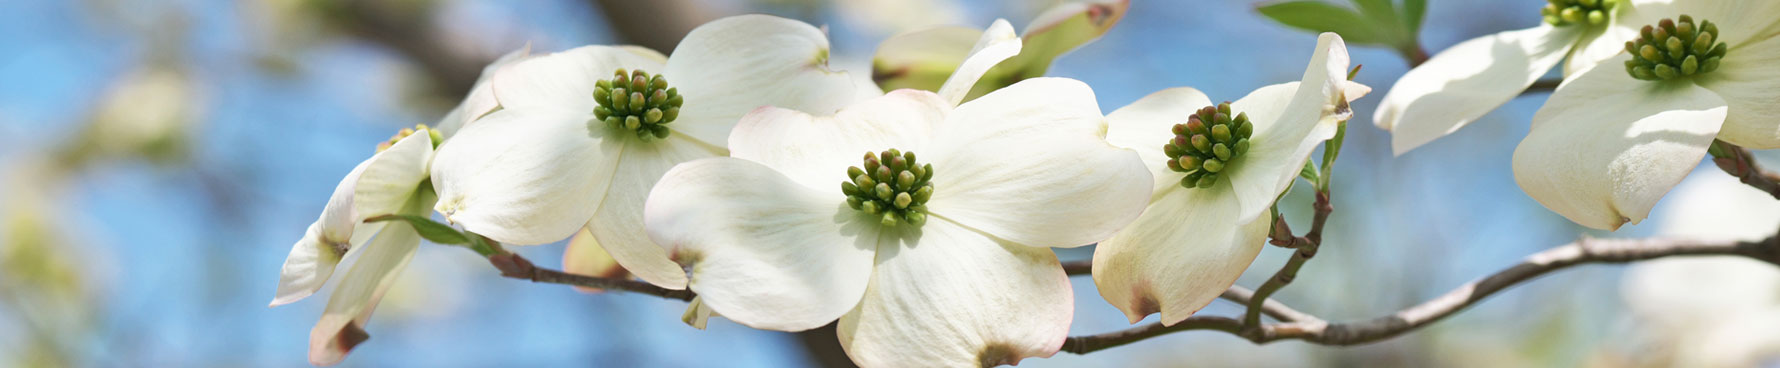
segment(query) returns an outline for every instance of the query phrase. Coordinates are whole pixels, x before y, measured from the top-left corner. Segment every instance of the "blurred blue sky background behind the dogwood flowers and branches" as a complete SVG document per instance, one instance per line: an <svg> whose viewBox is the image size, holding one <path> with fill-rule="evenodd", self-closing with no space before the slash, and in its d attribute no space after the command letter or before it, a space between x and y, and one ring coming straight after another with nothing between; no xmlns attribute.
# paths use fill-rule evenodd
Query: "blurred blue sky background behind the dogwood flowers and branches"
<svg viewBox="0 0 1780 368"><path fill-rule="evenodd" d="M436 121L486 62L509 50L630 43L666 53L698 23L769 12L826 25L835 64L869 73L872 50L892 34L931 25L981 28L995 18L1024 30L1056 4L0 0L0 366L304 364L324 299L265 308L290 244L377 142L402 126ZM1420 43L1438 52L1533 27L1543 4L1433 0ZM1237 100L1266 84L1298 80L1315 36L1280 27L1255 5L1136 0L1105 37L1057 59L1048 75L1088 82L1105 112L1166 87ZM1645 224L1611 235L1584 231L1522 194L1509 171L1513 148L1543 94L1518 98L1447 139L1392 156L1371 112L1406 62L1392 50L1363 46L1353 48L1353 59L1365 66L1358 80L1376 91L1356 103L1337 164L1339 212L1328 245L1276 297L1301 311L1328 320L1371 318L1579 235L1664 233L1673 228L1664 224L1682 224L1673 213L1752 220L1757 238L1780 224L1775 208L1739 208L1748 201L1675 210L1693 203L1677 199L1682 192L1748 197L1748 188L1703 167ZM1780 165L1776 156L1762 158ZM1305 192L1285 203L1292 224L1308 224ZM1695 224L1703 217L1686 219ZM562 245L514 251L554 267ZM1063 260L1089 254L1059 251ZM1260 284L1287 256L1285 249L1264 251L1239 284ZM1632 313L1627 300L1636 299L1622 290L1639 286L1622 283L1625 270L1554 274L1429 329L1365 347L1255 347L1221 332L1178 332L1022 366L1695 364L1664 340L1687 334L1655 329L1643 316L1684 308ZM1089 277L1073 283L1075 334L1129 327ZM1775 284L1737 293L1780 304ZM846 364L831 332L753 331L726 320L698 331L680 322L682 311L678 300L502 279L472 252L424 245L367 327L372 340L344 364ZM1202 313L1241 309L1214 302ZM1780 334L1771 332L1780 331L1780 320L1768 320L1773 329L1757 325L1764 329L1755 329L1755 338ZM1723 354L1730 352L1707 356ZM1764 359L1776 364L1771 352L1730 364Z"/></svg>

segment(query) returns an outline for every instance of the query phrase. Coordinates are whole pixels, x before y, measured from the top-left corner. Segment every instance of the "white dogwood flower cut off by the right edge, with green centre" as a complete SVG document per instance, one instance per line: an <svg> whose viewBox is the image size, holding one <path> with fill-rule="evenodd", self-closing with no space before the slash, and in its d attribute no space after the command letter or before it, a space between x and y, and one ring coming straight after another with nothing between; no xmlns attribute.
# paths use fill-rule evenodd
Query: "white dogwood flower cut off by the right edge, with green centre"
<svg viewBox="0 0 1780 368"><path fill-rule="evenodd" d="M1515 149L1527 196L1597 229L1643 220L1714 139L1780 148L1780 2L1634 5L1622 21L1655 27L1559 85Z"/></svg>

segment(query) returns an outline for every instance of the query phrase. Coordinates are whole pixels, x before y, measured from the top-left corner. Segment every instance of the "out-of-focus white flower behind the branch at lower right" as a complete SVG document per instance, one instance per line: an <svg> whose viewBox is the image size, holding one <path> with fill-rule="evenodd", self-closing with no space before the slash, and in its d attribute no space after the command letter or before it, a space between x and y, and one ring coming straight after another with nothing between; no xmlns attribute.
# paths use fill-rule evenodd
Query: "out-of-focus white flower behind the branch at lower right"
<svg viewBox="0 0 1780 368"><path fill-rule="evenodd" d="M1732 176L1675 188L1657 233L1759 242L1780 203ZM1780 359L1780 268L1741 258L1664 258L1632 265L1622 284L1634 322L1632 359L1670 366L1760 366Z"/></svg>

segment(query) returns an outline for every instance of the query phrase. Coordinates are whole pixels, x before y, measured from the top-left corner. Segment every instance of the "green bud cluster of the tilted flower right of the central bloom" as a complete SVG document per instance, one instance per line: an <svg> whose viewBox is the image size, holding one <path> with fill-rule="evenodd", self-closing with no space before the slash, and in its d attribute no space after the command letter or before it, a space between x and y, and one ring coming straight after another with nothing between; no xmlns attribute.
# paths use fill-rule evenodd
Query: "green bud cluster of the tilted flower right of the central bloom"
<svg viewBox="0 0 1780 368"><path fill-rule="evenodd" d="M1180 187L1209 188L1218 183L1219 172L1230 169L1230 162L1248 153L1248 137L1255 135L1255 123L1248 114L1230 114L1230 101L1205 107L1187 116L1185 124L1175 124L1175 139L1162 146L1168 153L1168 169L1185 172Z"/></svg>

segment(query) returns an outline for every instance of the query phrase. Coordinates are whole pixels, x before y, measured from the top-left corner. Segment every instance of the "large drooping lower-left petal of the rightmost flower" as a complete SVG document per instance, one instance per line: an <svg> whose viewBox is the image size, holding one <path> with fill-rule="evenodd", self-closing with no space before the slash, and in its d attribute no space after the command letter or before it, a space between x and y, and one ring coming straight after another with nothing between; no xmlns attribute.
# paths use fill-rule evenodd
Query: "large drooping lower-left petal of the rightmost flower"
<svg viewBox="0 0 1780 368"><path fill-rule="evenodd" d="M1634 80L1623 68L1582 71L1533 116L1515 148L1515 183L1577 224L1636 224L1700 164L1725 110L1723 98L1695 84Z"/></svg>

